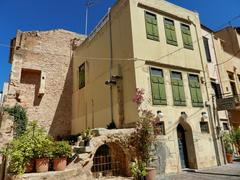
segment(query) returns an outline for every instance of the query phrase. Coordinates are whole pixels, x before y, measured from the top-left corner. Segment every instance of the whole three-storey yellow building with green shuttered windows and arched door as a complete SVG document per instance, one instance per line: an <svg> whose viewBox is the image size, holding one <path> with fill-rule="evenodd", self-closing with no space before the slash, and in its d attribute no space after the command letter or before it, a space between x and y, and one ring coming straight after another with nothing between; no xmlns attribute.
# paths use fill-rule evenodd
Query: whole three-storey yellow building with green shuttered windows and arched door
<svg viewBox="0 0 240 180"><path fill-rule="evenodd" d="M72 133L132 127L132 99L161 112L158 172L220 163L199 16L164 0L119 0L74 51Z"/></svg>

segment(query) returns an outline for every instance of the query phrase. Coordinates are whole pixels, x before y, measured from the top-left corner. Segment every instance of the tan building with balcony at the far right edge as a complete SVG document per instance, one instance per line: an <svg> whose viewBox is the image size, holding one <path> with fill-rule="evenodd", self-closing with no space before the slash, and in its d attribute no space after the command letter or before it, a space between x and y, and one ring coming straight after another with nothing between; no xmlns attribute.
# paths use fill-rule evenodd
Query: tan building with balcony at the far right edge
<svg viewBox="0 0 240 180"><path fill-rule="evenodd" d="M218 109L228 110L230 123L237 128L240 125L240 28L221 29L215 32L215 39L223 92Z"/></svg>

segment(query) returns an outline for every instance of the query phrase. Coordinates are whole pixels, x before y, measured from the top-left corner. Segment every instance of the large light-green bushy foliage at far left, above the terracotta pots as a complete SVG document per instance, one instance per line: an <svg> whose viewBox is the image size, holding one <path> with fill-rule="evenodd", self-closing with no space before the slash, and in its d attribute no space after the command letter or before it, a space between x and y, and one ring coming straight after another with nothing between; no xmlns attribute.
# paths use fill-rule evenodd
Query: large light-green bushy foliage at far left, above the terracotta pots
<svg viewBox="0 0 240 180"><path fill-rule="evenodd" d="M21 136L15 137L4 147L2 154L8 157L10 172L23 174L32 159L51 157L52 145L52 139L34 121L29 123Z"/></svg>

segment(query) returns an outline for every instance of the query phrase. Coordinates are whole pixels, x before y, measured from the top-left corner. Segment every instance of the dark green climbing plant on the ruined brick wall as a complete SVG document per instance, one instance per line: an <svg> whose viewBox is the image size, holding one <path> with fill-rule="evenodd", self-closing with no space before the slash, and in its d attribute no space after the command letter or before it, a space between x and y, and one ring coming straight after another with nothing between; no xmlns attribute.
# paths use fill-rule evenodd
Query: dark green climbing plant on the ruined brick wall
<svg viewBox="0 0 240 180"><path fill-rule="evenodd" d="M22 106L16 104L11 108L6 108L5 111L14 117L15 136L18 137L22 135L27 129L28 118L26 110Z"/></svg>

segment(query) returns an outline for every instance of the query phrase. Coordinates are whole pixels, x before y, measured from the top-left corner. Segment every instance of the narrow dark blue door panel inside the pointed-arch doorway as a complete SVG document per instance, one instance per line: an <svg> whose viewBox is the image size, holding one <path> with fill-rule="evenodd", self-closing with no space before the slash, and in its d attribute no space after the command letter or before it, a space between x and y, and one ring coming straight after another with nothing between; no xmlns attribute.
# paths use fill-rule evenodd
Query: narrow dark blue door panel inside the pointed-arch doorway
<svg viewBox="0 0 240 180"><path fill-rule="evenodd" d="M189 168L185 130L181 124L177 126L177 137L178 137L178 148L179 148L181 167L182 169Z"/></svg>

